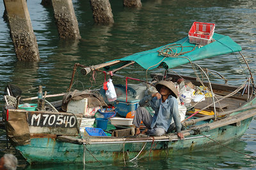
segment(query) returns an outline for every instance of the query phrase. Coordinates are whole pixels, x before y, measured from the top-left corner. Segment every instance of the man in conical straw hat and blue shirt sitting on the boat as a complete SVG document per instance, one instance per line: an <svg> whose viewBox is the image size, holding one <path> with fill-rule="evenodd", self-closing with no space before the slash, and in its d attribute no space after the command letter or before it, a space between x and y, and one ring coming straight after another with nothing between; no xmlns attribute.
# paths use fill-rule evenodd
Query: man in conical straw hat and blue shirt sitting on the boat
<svg viewBox="0 0 256 170"><path fill-rule="evenodd" d="M172 81L159 81L156 84L157 93L148 95L140 100L138 109L132 123L136 127L136 134L140 134L140 124L143 121L147 127L148 135L163 135L170 127L172 118L175 123L177 135L184 139L181 131L180 115L178 111L178 91ZM152 117L150 112L143 106L150 105L155 114Z"/></svg>

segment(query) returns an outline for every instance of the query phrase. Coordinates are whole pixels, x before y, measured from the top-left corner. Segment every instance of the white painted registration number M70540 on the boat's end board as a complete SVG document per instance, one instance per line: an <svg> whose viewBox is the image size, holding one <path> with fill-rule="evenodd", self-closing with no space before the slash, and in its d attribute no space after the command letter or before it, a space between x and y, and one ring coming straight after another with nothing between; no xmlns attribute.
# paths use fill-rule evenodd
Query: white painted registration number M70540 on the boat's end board
<svg viewBox="0 0 256 170"><path fill-rule="evenodd" d="M76 116L67 114L28 114L29 125L34 127L75 127Z"/></svg>

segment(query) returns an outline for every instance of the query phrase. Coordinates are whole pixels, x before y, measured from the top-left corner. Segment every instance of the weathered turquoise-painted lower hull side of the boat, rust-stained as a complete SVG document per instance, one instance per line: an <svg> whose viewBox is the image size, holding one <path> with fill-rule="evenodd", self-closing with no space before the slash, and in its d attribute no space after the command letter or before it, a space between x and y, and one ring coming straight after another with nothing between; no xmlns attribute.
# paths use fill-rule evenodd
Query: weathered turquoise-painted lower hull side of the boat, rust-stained
<svg viewBox="0 0 256 170"><path fill-rule="evenodd" d="M147 144L141 142L83 145L63 143L49 137L33 138L31 144L16 146L16 149L30 164L47 162L83 163L83 157L85 162L131 160L138 155L144 145L145 148L141 151L139 157L168 157L176 151L186 153L218 145L215 141L222 144L234 143L244 134L252 118L241 121L240 125L226 125L209 130L209 132L202 132L202 134L189 135L186 140L153 141ZM214 141L208 137L214 139ZM205 148L205 146L207 147ZM83 155L84 153L85 155Z"/></svg>

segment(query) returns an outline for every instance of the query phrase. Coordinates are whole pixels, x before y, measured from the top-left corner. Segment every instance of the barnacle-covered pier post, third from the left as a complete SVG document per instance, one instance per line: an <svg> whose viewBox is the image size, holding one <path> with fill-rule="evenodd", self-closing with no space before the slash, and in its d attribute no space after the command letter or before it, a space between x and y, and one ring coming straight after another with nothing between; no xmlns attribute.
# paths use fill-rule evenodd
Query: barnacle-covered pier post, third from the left
<svg viewBox="0 0 256 170"><path fill-rule="evenodd" d="M114 23L109 0L90 0L94 22L98 24Z"/></svg>

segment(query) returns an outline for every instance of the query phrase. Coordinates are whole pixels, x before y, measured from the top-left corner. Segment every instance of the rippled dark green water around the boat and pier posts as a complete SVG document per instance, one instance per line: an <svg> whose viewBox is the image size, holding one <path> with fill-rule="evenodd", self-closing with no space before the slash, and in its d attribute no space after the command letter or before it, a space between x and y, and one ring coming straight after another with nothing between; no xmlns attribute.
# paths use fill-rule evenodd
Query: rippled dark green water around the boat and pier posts
<svg viewBox="0 0 256 170"><path fill-rule="evenodd" d="M179 40L188 35L194 21L216 24L216 33L230 36L243 48L252 72L256 70L256 1L170 1L141 0L141 8L124 8L122 1L111 0L115 23L110 26L99 26L93 23L90 1L73 1L76 17L79 22L81 40L65 41L58 38L51 7L42 6L40 0L28 0L28 8L34 33L40 52L39 62L17 61L10 38L8 23L0 18L0 104L3 105L4 87L8 82L22 89L23 97L36 96L38 86L44 86L47 94L63 93L70 84L74 63L96 65L111 59L122 58L135 52L152 49ZM4 5L0 1L0 16L3 16ZM2 13L2 14L1 14ZM238 57L238 56L237 56ZM236 56L219 56L196 63L211 70L218 70L228 80L228 83L240 85L246 77L241 59ZM190 74L189 65L175 68ZM131 74L132 71L132 74ZM163 70L160 70L162 72ZM146 80L145 70L139 66L120 72L130 77ZM223 82L216 77L214 81ZM237 79L240 79L237 81ZM243 80L244 79L244 80ZM77 75L76 88L90 88L90 76ZM82 83L83 86L82 86ZM104 81L104 76L97 74L93 87ZM124 80L114 79L125 83ZM51 99L49 99L51 100ZM237 143L231 144L241 153L256 157L256 121L253 119L250 127ZM15 150L6 149L6 139L3 130L0 132L0 155ZM20 155L20 169L83 169L83 165L44 165L28 166ZM148 160L141 158L136 162L127 163L129 168L140 169L256 169L255 158L240 153L217 148L203 150L186 155L172 155L169 158ZM90 164L88 168L125 169L124 163L104 165Z"/></svg>

